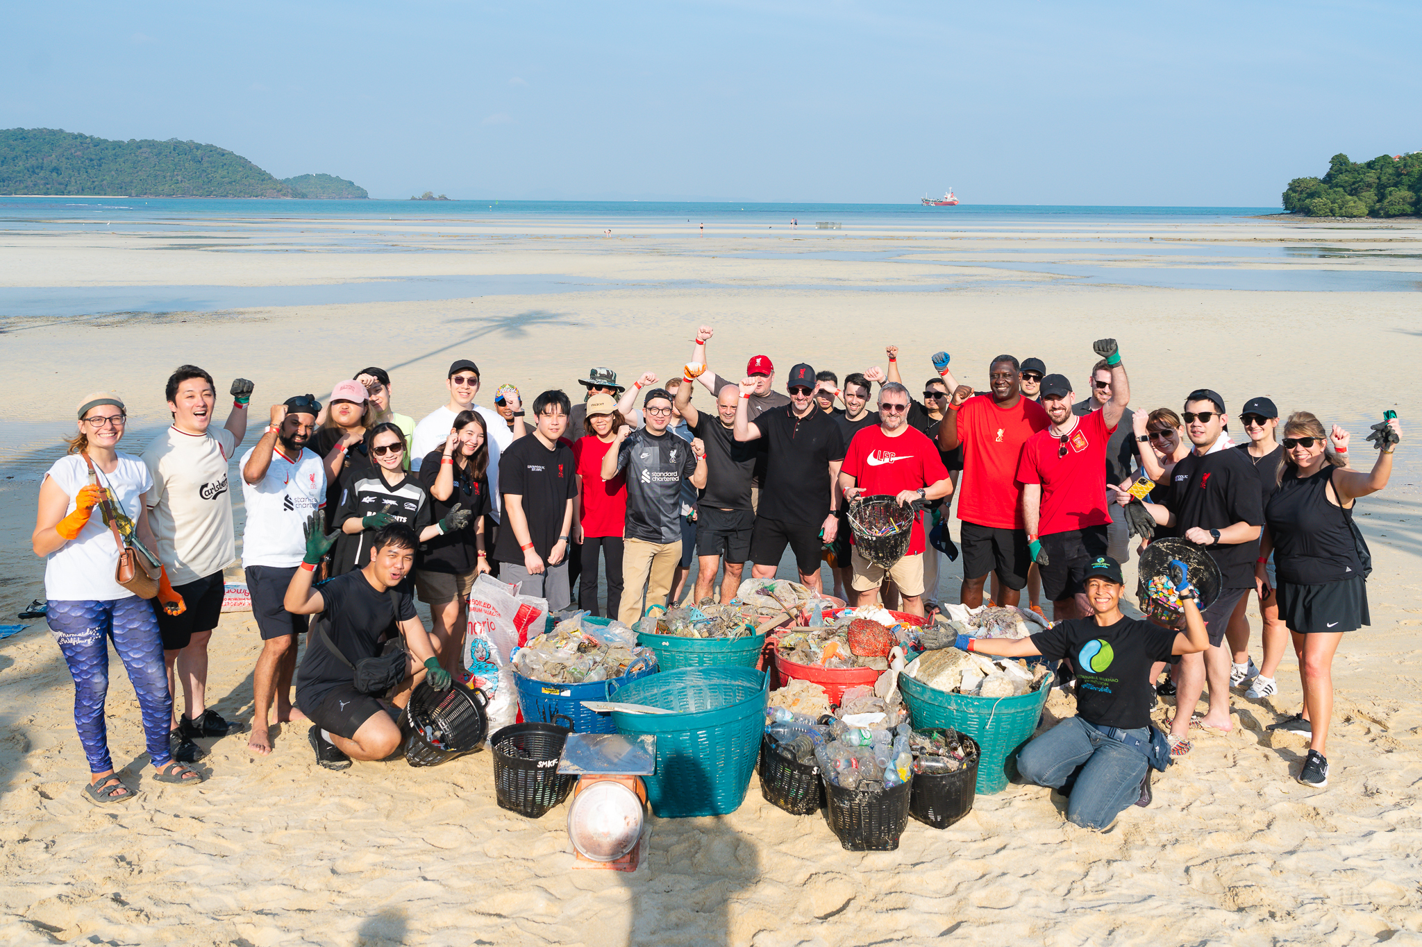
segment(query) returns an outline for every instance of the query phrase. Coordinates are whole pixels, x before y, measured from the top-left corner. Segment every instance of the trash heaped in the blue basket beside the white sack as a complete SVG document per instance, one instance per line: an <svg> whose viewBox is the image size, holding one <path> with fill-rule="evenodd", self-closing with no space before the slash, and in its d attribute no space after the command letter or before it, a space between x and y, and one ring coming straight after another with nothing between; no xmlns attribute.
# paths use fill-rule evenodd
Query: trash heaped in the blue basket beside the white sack
<svg viewBox="0 0 1422 947"><path fill-rule="evenodd" d="M563 619L553 630L513 652L513 670L529 680L583 684L656 667L657 655L637 647L637 633L623 625L584 623L584 613Z"/></svg>

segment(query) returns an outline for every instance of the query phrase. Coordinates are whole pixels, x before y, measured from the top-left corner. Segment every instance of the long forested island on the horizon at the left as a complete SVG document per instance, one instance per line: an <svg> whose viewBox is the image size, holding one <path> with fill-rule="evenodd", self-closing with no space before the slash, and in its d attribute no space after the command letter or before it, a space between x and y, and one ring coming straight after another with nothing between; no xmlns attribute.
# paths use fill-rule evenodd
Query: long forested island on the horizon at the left
<svg viewBox="0 0 1422 947"><path fill-rule="evenodd" d="M51 128L0 129L0 195L127 197L368 197L331 175L279 180L216 145L92 138Z"/></svg>

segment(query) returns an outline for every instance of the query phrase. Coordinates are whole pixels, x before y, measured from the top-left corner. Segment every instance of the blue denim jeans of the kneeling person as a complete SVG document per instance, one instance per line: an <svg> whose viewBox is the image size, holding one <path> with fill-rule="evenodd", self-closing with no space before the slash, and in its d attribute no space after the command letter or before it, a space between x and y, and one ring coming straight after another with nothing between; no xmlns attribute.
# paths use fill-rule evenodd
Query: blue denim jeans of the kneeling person
<svg viewBox="0 0 1422 947"><path fill-rule="evenodd" d="M1150 741L1148 727L1126 733ZM1081 717L1068 717L1017 754L1022 779L1066 792L1066 818L1088 829L1106 828L1140 798L1149 765L1139 750L1112 740Z"/></svg>

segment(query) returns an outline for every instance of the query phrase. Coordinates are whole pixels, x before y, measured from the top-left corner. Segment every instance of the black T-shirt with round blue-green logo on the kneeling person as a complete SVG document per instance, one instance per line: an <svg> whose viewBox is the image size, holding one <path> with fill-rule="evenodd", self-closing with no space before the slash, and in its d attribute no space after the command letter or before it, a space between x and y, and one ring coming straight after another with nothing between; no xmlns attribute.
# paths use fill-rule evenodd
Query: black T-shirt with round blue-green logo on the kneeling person
<svg viewBox="0 0 1422 947"><path fill-rule="evenodd" d="M1049 660L1069 657L1076 667L1076 713L1103 727L1150 726L1150 664L1170 660L1176 632L1132 618L1105 628L1074 618L1032 635Z"/></svg>

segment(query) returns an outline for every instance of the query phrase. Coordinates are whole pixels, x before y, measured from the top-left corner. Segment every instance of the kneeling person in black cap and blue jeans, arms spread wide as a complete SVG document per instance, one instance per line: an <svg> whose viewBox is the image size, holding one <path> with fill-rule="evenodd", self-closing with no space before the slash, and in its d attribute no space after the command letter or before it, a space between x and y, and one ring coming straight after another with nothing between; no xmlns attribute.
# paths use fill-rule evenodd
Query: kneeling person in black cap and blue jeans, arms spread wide
<svg viewBox="0 0 1422 947"><path fill-rule="evenodd" d="M1018 640L960 635L957 646L1003 657L1071 659L1079 681L1076 716L1022 747L1017 771L1024 782L1065 791L1068 821L1105 829L1129 805L1150 804L1150 770L1167 764L1165 741L1150 726L1150 666L1203 652L1207 635L1183 562L1170 564L1183 632L1121 613L1125 579L1115 559L1098 557L1085 572L1091 618L1057 622Z"/></svg>

